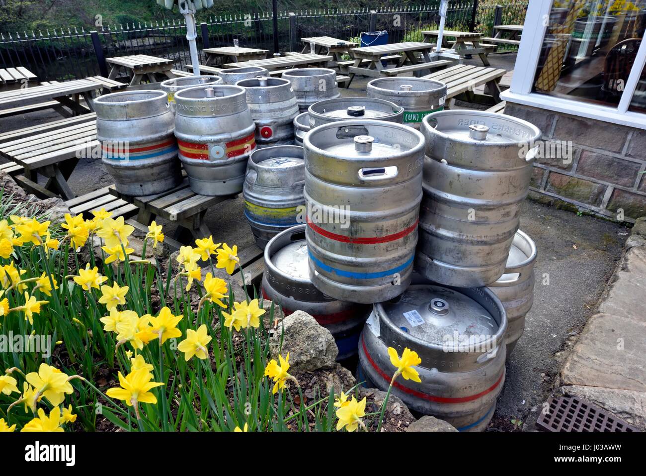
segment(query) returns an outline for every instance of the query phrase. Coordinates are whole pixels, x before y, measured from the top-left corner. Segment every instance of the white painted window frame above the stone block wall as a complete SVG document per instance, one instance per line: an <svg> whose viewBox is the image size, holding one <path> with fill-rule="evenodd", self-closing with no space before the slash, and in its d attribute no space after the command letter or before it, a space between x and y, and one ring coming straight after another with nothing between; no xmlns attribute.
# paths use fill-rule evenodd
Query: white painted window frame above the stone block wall
<svg viewBox="0 0 646 476"><path fill-rule="evenodd" d="M612 124L627 125L638 129L646 129L646 114L629 111L630 100L634 93L641 70L646 63L646 41L642 41L637 52L634 65L626 81L619 104L614 106L585 103L577 100L557 98L548 94L532 92L536 67L538 65L543 37L547 26L543 18L549 17L552 1L530 0L527 6L525 26L521 44L518 47L516 66L510 89L501 94L503 100L539 107L557 113L574 114Z"/></svg>

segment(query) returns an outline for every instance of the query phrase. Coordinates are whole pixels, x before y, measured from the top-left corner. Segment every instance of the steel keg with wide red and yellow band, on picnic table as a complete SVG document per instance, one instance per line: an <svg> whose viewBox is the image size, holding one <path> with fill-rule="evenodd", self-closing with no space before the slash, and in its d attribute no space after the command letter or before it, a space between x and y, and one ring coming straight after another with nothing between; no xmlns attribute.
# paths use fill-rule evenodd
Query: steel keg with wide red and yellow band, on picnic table
<svg viewBox="0 0 646 476"><path fill-rule="evenodd" d="M255 124L245 91L233 85L196 86L175 94L175 136L191 189L201 195L242 191Z"/></svg>

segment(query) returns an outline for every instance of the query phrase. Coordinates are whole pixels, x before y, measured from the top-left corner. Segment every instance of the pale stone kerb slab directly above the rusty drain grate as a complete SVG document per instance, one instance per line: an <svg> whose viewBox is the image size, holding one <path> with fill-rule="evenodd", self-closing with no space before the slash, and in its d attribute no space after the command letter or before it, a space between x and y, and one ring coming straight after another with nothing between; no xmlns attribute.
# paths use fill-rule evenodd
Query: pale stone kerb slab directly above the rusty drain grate
<svg viewBox="0 0 646 476"><path fill-rule="evenodd" d="M646 392L567 385L563 393L578 396L614 413L631 425L646 429Z"/></svg>

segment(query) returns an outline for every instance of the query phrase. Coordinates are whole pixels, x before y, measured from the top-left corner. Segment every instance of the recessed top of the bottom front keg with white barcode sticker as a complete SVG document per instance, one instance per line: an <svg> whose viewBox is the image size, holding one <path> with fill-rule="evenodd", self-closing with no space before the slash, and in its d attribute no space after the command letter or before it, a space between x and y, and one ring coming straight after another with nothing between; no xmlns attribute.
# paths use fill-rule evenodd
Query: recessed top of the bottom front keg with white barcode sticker
<svg viewBox="0 0 646 476"><path fill-rule="evenodd" d="M474 299L474 294L481 297L481 301ZM492 301L497 315L485 307L485 299ZM436 301L438 304L433 305ZM472 312L472 315L464 314L465 312ZM464 344L452 345L453 342L446 339L446 335L453 338L454 332L458 332L460 336L485 337L470 341L472 344L495 342L502 345L507 327L505 308L488 288L457 288L434 283L411 285L400 296L375 304L375 314L381 321L379 327L388 327L391 335L386 338L389 340L393 337L400 338L401 341L411 341L418 348L436 350L461 349ZM492 327L489 322L492 318L496 327L485 333L485 330ZM413 325L415 321L418 323ZM384 338L383 331L381 335ZM474 351L486 352L488 351Z"/></svg>

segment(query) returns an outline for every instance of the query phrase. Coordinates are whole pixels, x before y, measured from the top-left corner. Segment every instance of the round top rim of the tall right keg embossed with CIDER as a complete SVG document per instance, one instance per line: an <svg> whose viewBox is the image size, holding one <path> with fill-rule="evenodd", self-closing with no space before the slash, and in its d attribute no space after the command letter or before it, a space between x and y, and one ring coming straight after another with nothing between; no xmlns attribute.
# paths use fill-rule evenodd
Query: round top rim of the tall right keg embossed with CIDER
<svg viewBox="0 0 646 476"><path fill-rule="evenodd" d="M463 118L464 124L454 124L454 118ZM432 122L435 122L432 125ZM522 127L523 136L512 136L506 127L494 127L495 125L514 124ZM444 140L455 140L458 142L468 142L469 144L481 144L483 146L515 146L518 144L533 144L541 138L541 129L536 125L507 114L488 113L486 111L472 111L469 109L444 109L428 114L422 119L424 131L430 135L440 136ZM471 138L469 136L471 125L487 125L487 138L485 140ZM450 127L443 130L442 127ZM459 129L459 135L456 136L456 129ZM533 145L532 145L533 147Z"/></svg>

